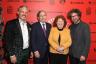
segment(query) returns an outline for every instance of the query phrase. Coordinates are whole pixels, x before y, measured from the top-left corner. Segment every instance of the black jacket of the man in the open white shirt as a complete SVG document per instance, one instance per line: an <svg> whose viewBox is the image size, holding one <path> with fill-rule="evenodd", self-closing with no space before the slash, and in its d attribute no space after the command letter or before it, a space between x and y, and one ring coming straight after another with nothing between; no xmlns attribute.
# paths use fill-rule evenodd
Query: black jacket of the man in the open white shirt
<svg viewBox="0 0 96 64"><path fill-rule="evenodd" d="M30 32L30 25L27 23L28 32ZM30 34L30 33L29 33ZM30 37L29 37L30 38ZM18 19L8 21L4 30L4 42L9 56L20 55L23 50L23 37Z"/></svg>

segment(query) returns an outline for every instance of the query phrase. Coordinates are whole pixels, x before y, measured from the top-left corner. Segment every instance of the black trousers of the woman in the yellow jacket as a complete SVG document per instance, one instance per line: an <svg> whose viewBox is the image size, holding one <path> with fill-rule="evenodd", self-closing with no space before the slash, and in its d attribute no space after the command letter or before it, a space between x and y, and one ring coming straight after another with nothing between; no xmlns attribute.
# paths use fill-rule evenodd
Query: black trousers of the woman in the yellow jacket
<svg viewBox="0 0 96 64"><path fill-rule="evenodd" d="M50 64L67 64L68 55L50 53Z"/></svg>

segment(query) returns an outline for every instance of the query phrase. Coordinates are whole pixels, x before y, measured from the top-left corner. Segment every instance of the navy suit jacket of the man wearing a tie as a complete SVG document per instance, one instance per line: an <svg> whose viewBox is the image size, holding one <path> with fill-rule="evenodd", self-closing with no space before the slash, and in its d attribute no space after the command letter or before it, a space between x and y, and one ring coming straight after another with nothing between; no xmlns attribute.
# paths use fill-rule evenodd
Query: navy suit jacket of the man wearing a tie
<svg viewBox="0 0 96 64"><path fill-rule="evenodd" d="M40 22L36 22L32 25L31 30L31 45L32 51L39 51L40 57L44 57L45 53L48 53L48 37L51 25L46 23L46 37L44 35L43 29Z"/></svg>

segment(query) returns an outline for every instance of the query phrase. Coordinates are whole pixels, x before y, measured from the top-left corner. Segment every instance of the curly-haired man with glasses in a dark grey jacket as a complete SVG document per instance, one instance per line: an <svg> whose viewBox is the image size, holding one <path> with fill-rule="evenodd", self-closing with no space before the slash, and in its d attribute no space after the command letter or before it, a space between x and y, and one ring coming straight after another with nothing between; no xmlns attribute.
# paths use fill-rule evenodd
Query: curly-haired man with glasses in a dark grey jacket
<svg viewBox="0 0 96 64"><path fill-rule="evenodd" d="M72 21L70 26L72 45L69 51L71 64L86 64L90 48L90 30L88 24L81 20L81 12L72 9L68 13L68 18Z"/></svg>

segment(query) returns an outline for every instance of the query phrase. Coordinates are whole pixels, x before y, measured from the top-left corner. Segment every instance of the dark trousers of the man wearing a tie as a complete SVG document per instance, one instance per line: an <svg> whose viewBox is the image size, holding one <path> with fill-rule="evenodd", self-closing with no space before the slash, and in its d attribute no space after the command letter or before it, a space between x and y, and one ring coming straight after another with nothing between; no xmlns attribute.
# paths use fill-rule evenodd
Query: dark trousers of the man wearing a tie
<svg viewBox="0 0 96 64"><path fill-rule="evenodd" d="M48 64L48 54L44 57L34 58L34 64Z"/></svg>

